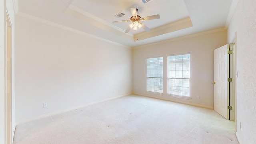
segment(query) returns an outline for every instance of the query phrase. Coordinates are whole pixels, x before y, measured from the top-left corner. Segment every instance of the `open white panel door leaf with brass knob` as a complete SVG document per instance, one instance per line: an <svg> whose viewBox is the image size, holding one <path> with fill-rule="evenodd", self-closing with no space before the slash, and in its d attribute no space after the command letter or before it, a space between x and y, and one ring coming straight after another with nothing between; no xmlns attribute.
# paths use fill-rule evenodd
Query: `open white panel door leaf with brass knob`
<svg viewBox="0 0 256 144"><path fill-rule="evenodd" d="M214 110L229 119L228 45L214 50Z"/></svg>

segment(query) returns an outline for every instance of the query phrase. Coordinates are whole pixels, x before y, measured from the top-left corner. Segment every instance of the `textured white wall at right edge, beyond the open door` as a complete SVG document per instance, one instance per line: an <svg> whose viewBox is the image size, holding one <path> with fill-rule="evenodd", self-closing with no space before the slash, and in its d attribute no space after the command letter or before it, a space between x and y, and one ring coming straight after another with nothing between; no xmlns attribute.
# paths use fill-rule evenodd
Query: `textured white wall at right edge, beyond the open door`
<svg viewBox="0 0 256 144"><path fill-rule="evenodd" d="M236 37L237 132L240 144L256 144L256 1L239 0L228 27L228 42ZM241 123L241 128L240 128Z"/></svg>

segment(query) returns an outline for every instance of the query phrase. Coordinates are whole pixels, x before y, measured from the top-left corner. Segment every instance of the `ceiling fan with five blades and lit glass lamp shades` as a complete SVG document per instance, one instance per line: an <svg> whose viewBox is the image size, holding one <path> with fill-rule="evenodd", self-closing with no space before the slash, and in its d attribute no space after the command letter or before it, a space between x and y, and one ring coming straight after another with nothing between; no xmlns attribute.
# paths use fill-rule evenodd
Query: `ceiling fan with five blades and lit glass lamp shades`
<svg viewBox="0 0 256 144"><path fill-rule="evenodd" d="M120 20L120 21L114 21L113 23L116 22L133 22L132 24L129 24L129 27L126 29L125 33L128 33L130 29L138 30L138 28L143 28L147 32L150 31L150 28L148 28L145 24L142 24L140 21L144 20L154 20L154 19L159 19L160 15L156 14L153 16L146 16L146 17L140 17L137 15L138 9L137 8L130 8L130 11L132 13L132 17L130 20Z"/></svg>

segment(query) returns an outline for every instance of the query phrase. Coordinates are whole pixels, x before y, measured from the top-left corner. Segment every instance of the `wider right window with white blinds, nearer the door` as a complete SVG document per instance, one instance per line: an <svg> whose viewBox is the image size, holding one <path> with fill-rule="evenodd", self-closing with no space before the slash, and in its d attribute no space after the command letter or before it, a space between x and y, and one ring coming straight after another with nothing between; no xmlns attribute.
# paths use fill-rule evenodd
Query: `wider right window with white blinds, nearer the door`
<svg viewBox="0 0 256 144"><path fill-rule="evenodd" d="M168 56L168 94L190 97L190 54Z"/></svg>

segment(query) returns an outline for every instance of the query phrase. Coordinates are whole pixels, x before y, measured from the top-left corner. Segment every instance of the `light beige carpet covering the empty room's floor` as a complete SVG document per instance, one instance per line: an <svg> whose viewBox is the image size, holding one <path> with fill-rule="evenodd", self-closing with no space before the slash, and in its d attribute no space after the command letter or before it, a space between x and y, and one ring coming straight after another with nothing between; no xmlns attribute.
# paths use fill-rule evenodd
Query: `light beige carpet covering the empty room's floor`
<svg viewBox="0 0 256 144"><path fill-rule="evenodd" d="M14 144L238 144L214 110L124 96L17 125Z"/></svg>

